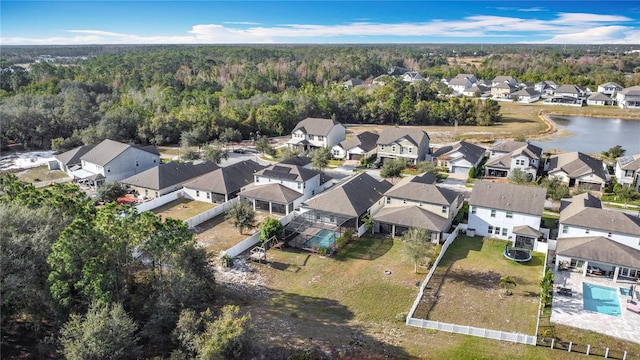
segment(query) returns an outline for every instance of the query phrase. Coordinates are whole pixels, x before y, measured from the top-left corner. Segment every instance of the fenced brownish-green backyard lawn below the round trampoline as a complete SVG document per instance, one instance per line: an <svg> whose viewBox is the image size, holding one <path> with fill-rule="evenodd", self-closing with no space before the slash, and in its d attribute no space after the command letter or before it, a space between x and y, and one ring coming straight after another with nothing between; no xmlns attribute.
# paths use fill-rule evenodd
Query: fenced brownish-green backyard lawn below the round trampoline
<svg viewBox="0 0 640 360"><path fill-rule="evenodd" d="M532 253L532 260L520 264L503 256L505 244L458 237L438 265L415 317L534 335L544 254ZM503 276L514 277L513 295L500 288Z"/></svg>

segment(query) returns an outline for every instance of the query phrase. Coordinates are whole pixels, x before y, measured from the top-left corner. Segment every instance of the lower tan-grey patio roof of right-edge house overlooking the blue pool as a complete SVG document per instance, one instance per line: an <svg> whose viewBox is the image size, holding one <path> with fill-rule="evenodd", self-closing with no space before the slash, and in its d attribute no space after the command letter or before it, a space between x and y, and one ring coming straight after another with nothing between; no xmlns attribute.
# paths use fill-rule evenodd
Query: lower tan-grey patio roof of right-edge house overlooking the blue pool
<svg viewBox="0 0 640 360"><path fill-rule="evenodd" d="M640 250L602 236L558 239L556 254L629 268L640 268Z"/></svg>

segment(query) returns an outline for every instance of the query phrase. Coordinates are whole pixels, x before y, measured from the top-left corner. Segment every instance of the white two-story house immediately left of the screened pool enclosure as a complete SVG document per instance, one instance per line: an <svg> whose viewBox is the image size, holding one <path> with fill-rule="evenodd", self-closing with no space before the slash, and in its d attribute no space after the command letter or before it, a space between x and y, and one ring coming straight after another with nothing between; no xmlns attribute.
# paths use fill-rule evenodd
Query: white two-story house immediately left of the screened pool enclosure
<svg viewBox="0 0 640 360"><path fill-rule="evenodd" d="M330 184L331 178L318 171L277 163L257 171L253 186L247 186L238 196L251 201L254 210L286 215Z"/></svg>

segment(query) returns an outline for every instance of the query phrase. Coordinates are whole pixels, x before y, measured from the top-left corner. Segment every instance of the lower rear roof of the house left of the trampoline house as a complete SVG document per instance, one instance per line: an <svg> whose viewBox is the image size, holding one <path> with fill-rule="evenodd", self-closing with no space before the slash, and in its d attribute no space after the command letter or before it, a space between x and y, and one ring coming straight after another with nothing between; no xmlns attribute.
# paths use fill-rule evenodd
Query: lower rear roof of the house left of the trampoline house
<svg viewBox="0 0 640 360"><path fill-rule="evenodd" d="M445 231L449 220L419 206L387 207L373 216L378 222L395 224L409 228L427 229L433 232Z"/></svg>

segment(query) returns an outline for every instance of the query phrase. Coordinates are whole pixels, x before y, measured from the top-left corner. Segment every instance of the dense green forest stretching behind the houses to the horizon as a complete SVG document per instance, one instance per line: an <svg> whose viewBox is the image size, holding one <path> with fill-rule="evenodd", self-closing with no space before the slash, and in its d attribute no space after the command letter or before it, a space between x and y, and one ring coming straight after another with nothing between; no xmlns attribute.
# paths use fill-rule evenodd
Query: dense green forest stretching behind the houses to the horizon
<svg viewBox="0 0 640 360"><path fill-rule="evenodd" d="M34 62L42 55L57 60ZM435 81L388 77L377 86L342 85L393 66ZM499 121L493 101L438 96L447 93L438 80L458 73L592 88L640 84L640 57L602 46L3 47L0 67L1 143L54 149L105 138L157 145L188 138L197 145L228 127L245 138L258 130L282 135L306 117L398 125Z"/></svg>

